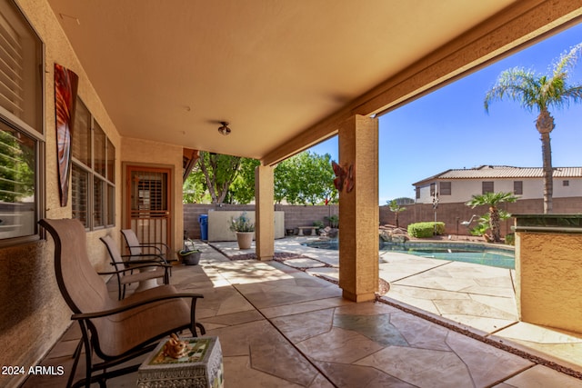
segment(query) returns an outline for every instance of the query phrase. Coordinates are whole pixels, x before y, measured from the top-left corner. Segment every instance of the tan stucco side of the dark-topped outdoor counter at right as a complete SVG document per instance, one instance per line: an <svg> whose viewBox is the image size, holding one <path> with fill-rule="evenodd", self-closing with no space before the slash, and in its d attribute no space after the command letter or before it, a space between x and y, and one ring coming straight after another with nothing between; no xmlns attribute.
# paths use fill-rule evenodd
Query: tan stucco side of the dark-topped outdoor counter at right
<svg viewBox="0 0 582 388"><path fill-rule="evenodd" d="M582 333L582 234L516 234L517 311L527 323Z"/></svg>

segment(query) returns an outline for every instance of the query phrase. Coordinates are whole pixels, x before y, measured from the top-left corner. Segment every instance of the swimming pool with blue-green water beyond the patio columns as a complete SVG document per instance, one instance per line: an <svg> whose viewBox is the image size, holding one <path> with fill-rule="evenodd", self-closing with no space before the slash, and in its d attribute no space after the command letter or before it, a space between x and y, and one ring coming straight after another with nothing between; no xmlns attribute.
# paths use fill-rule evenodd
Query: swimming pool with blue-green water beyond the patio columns
<svg viewBox="0 0 582 388"><path fill-rule="evenodd" d="M315 241L306 246L321 249L338 249L336 240ZM424 243L406 242L405 244L380 243L381 251L414 254L430 259L448 260L493 267L514 269L515 253L510 247L502 248L487 244L471 243Z"/></svg>

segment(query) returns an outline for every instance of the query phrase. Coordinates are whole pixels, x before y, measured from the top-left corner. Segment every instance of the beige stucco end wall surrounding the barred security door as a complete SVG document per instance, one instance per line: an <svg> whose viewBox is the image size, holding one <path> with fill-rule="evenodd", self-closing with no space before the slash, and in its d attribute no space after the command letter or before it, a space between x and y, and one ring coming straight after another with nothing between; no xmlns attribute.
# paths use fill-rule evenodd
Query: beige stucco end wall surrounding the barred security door
<svg viewBox="0 0 582 388"><path fill-rule="evenodd" d="M143 165L149 167L169 168L174 172L172 176L172 194L174 201L171 204L170 217L172 227L172 247L174 251L182 249L184 240L184 210L182 204L182 147L150 142L141 139L124 137L121 141L121 162L125 176L125 165ZM125 182L125 179L124 179ZM125 186L119 190L125 198ZM117 211L125 212L119 203ZM125 205L125 204L124 204ZM122 215L124 217L124 215ZM122 220L125 225L125 219Z"/></svg>

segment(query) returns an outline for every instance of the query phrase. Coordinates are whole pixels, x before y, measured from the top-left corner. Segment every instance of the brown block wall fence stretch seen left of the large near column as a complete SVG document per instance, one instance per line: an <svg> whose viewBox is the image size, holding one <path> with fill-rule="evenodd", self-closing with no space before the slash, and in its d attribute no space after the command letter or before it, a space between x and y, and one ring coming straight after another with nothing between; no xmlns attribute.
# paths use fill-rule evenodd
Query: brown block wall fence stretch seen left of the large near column
<svg viewBox="0 0 582 388"><path fill-rule="evenodd" d="M327 217L339 214L339 207L336 204L330 205L293 205L275 204L276 211L285 212L285 229L296 231L298 226L312 226L314 222L321 221L325 226L329 224ZM254 211L254 204L184 204L184 229L186 237L192 239L200 238L200 223L198 218L201 214L221 211Z"/></svg>

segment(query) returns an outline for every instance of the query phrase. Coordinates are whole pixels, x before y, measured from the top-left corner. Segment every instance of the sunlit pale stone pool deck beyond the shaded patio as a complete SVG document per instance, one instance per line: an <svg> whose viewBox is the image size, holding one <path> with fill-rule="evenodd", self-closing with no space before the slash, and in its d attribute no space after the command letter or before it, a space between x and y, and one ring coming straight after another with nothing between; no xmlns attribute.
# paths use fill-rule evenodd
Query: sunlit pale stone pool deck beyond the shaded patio
<svg viewBox="0 0 582 388"><path fill-rule="evenodd" d="M276 240L275 251L300 254L284 264L318 277L338 280L338 251L303 244L316 237ZM228 256L252 254L236 243L212 243ZM582 372L582 335L519 322L515 270L380 251L379 277L390 284L381 300L427 320L482 338L511 343L517 351Z"/></svg>

